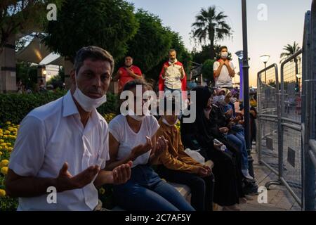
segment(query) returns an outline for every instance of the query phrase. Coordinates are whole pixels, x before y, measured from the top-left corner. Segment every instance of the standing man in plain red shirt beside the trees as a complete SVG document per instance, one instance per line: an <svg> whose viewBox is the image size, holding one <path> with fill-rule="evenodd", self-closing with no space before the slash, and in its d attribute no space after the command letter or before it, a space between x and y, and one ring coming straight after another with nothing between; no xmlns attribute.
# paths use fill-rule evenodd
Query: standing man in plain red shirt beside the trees
<svg viewBox="0 0 316 225"><path fill-rule="evenodd" d="M140 68L138 68L136 65L133 65L133 58L131 58L131 56L126 56L124 66L117 70L117 75L115 75L113 81L116 82L119 80L119 92L121 92L127 82L130 82L133 79L141 78L143 78L143 75L140 71Z"/></svg>

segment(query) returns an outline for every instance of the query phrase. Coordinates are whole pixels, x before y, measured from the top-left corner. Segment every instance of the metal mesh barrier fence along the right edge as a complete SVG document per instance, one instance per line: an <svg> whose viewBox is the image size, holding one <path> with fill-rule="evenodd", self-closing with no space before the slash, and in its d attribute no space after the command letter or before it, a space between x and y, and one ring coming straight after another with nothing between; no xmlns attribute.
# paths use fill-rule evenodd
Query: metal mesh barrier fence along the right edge
<svg viewBox="0 0 316 225"><path fill-rule="evenodd" d="M258 159L302 210L316 210L316 0L305 14L303 49L258 72Z"/></svg>

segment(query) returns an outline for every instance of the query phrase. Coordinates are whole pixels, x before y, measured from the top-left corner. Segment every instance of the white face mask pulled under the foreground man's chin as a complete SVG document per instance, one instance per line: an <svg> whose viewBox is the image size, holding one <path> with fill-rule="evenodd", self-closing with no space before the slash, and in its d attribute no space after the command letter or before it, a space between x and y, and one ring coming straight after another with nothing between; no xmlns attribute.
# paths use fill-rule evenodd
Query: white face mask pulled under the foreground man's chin
<svg viewBox="0 0 316 225"><path fill-rule="evenodd" d="M83 94L78 87L76 87L76 91L74 91L73 96L86 112L91 112L93 109L98 108L107 101L106 95L102 96L101 98L89 98Z"/></svg>

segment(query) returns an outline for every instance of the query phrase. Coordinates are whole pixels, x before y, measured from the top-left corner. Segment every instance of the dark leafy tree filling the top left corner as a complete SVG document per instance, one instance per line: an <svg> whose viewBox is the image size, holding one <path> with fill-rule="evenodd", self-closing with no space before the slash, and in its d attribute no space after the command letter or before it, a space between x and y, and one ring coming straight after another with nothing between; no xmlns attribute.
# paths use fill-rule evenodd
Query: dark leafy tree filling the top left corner
<svg viewBox="0 0 316 225"><path fill-rule="evenodd" d="M15 34L39 32L47 23L46 6L63 0L8 0L0 4L0 53Z"/></svg>

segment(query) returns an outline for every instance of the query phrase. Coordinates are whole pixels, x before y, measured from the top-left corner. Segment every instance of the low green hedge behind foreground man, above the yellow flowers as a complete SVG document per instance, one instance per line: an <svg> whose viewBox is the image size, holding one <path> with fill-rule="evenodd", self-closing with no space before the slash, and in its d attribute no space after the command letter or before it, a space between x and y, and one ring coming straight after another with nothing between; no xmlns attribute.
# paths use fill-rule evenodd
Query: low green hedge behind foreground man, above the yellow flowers
<svg viewBox="0 0 316 225"><path fill-rule="evenodd" d="M45 105L66 94L67 91L56 91L41 94L0 94L0 123L11 121L20 124L22 119L34 108ZM107 94L107 103L98 108L101 115L114 113L117 110L118 97Z"/></svg>

